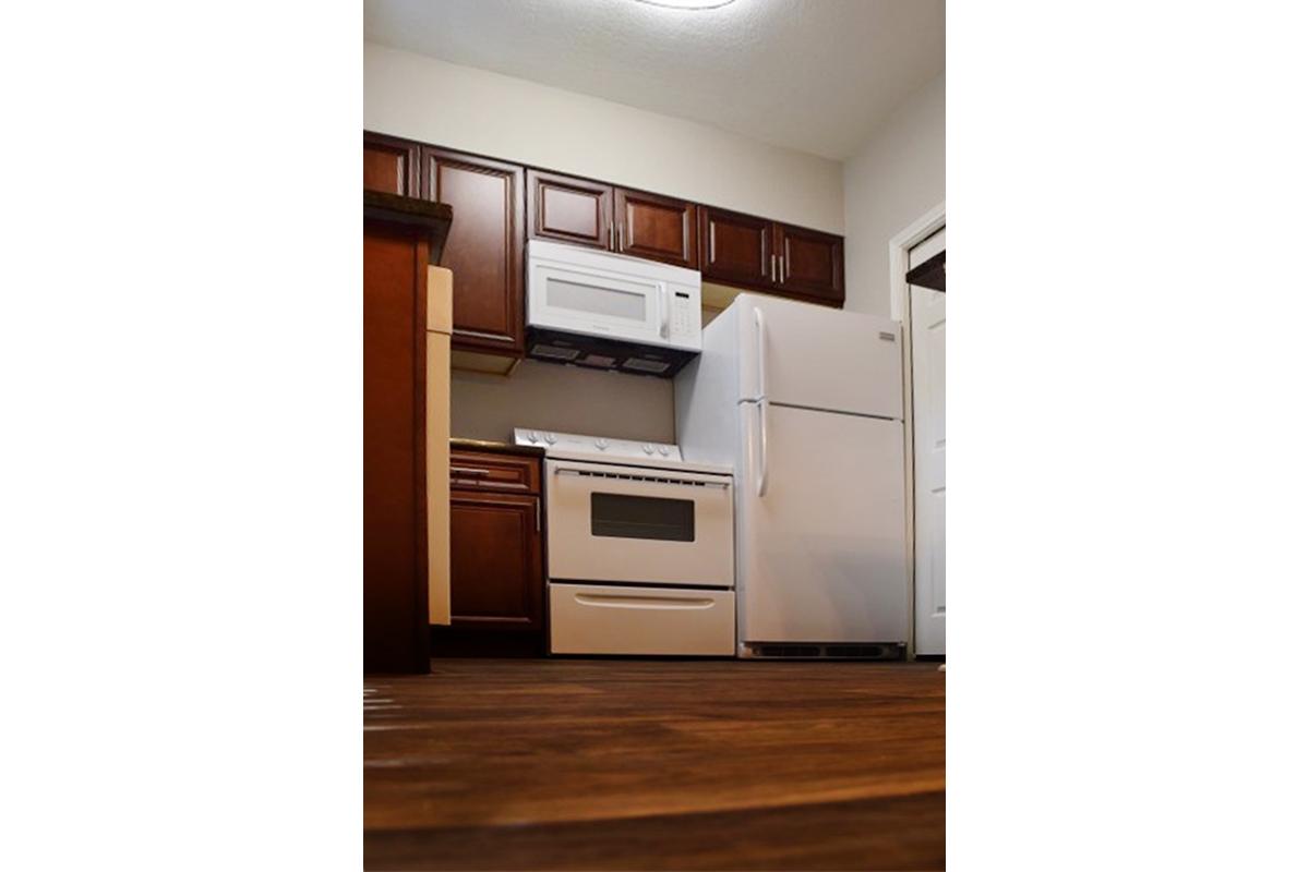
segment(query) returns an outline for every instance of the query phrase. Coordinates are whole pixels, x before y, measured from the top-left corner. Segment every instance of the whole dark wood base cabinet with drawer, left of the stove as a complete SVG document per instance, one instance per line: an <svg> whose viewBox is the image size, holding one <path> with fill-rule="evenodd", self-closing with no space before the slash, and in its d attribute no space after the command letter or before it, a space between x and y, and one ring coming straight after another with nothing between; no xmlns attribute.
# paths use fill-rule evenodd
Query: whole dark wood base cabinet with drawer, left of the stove
<svg viewBox="0 0 1309 872"><path fill-rule="evenodd" d="M545 518L537 458L450 455L450 626L437 654L545 652Z"/></svg>

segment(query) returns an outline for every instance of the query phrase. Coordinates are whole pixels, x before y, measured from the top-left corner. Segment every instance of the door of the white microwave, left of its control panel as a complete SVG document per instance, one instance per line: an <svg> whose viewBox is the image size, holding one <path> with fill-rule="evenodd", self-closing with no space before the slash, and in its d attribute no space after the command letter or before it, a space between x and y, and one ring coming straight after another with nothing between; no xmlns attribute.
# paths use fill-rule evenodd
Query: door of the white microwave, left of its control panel
<svg viewBox="0 0 1309 872"><path fill-rule="evenodd" d="M668 284L590 265L533 259L528 323L588 336L666 345Z"/></svg>

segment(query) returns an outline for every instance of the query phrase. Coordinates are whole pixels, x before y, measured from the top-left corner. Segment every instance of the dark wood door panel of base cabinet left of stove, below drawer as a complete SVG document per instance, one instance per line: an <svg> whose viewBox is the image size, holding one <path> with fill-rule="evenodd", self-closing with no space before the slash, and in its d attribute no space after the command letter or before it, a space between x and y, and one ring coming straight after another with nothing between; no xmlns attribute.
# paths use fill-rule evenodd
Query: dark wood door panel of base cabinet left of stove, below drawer
<svg viewBox="0 0 1309 872"><path fill-rule="evenodd" d="M450 492L450 626L539 630L539 498Z"/></svg>

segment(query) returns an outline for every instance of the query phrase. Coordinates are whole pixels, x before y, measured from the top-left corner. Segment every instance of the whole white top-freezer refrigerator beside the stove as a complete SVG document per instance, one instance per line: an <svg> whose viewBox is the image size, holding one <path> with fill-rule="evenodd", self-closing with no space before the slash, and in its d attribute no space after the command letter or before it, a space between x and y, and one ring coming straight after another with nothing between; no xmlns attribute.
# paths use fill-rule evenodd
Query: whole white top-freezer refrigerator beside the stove
<svg viewBox="0 0 1309 872"><path fill-rule="evenodd" d="M907 643L899 323L741 294L674 383L687 460L736 473L737 652Z"/></svg>

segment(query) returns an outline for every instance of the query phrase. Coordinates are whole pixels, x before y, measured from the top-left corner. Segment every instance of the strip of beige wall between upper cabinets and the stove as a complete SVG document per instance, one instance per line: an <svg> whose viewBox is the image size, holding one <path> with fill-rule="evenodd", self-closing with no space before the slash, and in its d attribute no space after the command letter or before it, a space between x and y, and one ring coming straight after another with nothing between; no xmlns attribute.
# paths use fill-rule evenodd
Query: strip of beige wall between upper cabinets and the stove
<svg viewBox="0 0 1309 872"><path fill-rule="evenodd" d="M673 380L538 361L509 378L453 373L452 435L508 441L516 426L673 442Z"/></svg>

